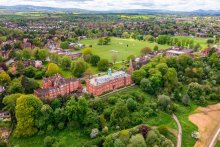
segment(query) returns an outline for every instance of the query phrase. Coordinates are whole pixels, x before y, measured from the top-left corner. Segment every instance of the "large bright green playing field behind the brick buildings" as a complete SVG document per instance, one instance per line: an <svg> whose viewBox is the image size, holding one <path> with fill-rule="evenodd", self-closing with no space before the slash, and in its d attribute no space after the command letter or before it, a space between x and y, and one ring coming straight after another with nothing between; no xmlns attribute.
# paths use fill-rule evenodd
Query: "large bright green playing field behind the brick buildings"
<svg viewBox="0 0 220 147"><path fill-rule="evenodd" d="M99 55L101 58L108 59L112 62L112 56L117 55L117 61L127 60L130 55L140 56L140 50L146 46L154 48L157 43L148 41L138 41L134 39L111 38L109 45L97 45L98 39L86 39L80 43L87 47L92 45L93 54ZM128 47L127 47L128 45ZM158 45L159 49L166 49L168 45Z"/></svg>

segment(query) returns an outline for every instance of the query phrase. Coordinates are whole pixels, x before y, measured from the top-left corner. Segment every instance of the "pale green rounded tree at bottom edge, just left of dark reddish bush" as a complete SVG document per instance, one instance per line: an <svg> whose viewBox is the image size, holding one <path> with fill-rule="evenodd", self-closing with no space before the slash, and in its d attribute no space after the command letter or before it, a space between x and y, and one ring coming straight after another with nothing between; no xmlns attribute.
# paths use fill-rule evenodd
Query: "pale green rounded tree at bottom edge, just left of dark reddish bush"
<svg viewBox="0 0 220 147"><path fill-rule="evenodd" d="M132 136L129 142L131 147L146 147L144 137L141 134Z"/></svg>

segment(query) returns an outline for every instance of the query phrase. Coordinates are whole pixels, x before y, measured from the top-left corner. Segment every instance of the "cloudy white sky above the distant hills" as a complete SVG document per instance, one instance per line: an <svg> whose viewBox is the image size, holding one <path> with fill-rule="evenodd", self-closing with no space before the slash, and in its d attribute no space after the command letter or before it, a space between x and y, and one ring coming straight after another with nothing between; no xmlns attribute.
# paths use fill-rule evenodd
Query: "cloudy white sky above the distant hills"
<svg viewBox="0 0 220 147"><path fill-rule="evenodd" d="M34 5L87 10L220 10L220 0L0 0L0 5Z"/></svg>

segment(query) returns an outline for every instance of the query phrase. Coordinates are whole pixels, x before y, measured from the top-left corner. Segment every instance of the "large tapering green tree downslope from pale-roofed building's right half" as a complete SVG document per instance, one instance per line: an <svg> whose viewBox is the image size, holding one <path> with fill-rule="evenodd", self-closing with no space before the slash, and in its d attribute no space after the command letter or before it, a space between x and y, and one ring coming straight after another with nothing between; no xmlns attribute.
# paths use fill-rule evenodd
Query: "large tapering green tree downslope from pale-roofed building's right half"
<svg viewBox="0 0 220 147"><path fill-rule="evenodd" d="M123 101L119 101L111 113L111 124L125 128L129 123L128 114L129 111L126 104Z"/></svg>

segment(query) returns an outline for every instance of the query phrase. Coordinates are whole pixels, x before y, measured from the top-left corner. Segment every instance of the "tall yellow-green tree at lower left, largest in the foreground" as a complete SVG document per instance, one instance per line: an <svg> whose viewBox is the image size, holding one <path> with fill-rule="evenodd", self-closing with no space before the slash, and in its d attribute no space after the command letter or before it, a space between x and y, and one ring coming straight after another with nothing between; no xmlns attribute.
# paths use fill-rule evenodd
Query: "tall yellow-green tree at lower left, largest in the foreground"
<svg viewBox="0 0 220 147"><path fill-rule="evenodd" d="M15 136L28 137L37 132L35 120L39 116L43 103L33 95L23 95L17 99Z"/></svg>

